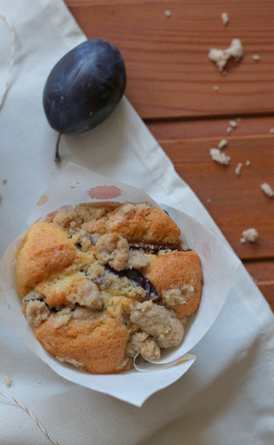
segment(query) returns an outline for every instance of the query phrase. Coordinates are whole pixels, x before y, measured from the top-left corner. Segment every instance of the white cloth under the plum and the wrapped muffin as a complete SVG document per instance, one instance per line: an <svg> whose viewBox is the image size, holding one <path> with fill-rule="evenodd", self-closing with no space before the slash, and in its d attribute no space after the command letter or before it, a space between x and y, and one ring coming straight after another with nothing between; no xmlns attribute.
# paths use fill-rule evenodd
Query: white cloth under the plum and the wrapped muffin
<svg viewBox="0 0 274 445"><path fill-rule="evenodd" d="M62 164L55 165L57 135L44 117L42 89L56 61L85 36L60 0L0 0L0 12L17 36L12 85L0 113L0 179L8 178L1 186L1 253L22 232L33 205L67 161L143 188L157 202L189 213L224 241L126 99L93 131L62 137ZM0 36L10 44L1 23ZM8 63L1 60L1 85L7 70ZM273 319L241 266L221 314L192 351L198 355L194 365L142 408L58 377L0 320L0 391L24 403L60 445L270 445ZM3 385L3 375L11 378L10 388ZM0 396L0 444L49 440L24 410Z"/></svg>

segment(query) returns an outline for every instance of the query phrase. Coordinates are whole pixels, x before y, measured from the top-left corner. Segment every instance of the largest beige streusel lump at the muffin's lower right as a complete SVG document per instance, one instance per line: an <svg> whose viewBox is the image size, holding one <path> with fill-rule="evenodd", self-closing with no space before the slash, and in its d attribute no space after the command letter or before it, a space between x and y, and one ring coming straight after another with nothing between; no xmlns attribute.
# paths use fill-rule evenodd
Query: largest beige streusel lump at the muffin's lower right
<svg viewBox="0 0 274 445"><path fill-rule="evenodd" d="M130 312L130 321L155 337L160 348L178 346L184 335L184 328L175 312L155 305L151 300L137 303Z"/></svg>

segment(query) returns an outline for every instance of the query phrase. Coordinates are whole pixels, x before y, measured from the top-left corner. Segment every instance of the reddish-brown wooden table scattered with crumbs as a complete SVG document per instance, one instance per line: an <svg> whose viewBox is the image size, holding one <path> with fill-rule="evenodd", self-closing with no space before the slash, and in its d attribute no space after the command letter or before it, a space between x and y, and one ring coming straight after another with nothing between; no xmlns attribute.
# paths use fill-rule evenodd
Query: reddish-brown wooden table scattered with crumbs
<svg viewBox="0 0 274 445"><path fill-rule="evenodd" d="M128 99L274 311L274 199L260 189L264 181L274 188L273 0L66 2L87 38L119 48ZM221 21L224 11L228 26ZM207 54L211 47L228 47L232 38L241 39L245 55L229 62L224 75ZM236 118L241 121L228 135L229 121ZM229 166L209 157L221 138L228 140ZM241 244L241 232L249 227L257 229L259 240Z"/></svg>

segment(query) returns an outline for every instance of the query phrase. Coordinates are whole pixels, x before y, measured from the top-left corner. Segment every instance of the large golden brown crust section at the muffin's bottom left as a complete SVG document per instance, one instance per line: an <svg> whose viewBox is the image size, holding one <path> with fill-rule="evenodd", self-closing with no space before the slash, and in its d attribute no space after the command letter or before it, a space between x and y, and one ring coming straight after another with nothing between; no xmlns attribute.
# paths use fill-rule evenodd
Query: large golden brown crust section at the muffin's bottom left
<svg viewBox="0 0 274 445"><path fill-rule="evenodd" d="M89 373L123 371L121 362L128 341L128 330L115 318L99 320L70 320L57 329L55 314L33 327L42 346L56 357L74 359Z"/></svg>

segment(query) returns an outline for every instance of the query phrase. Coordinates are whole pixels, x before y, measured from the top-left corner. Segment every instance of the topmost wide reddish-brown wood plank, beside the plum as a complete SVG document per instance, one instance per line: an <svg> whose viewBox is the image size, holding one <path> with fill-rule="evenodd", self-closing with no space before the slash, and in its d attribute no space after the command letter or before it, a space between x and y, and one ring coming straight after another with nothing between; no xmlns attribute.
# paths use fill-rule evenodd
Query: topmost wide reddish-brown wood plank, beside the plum
<svg viewBox="0 0 274 445"><path fill-rule="evenodd" d="M88 38L110 40L126 60L126 95L142 118L273 113L273 0L80 1L67 5ZM172 16L165 17L164 10ZM223 26L227 10L230 24ZM241 63L224 76L210 47L240 38ZM252 54L259 54L256 63ZM218 94L213 87L218 85Z"/></svg>

